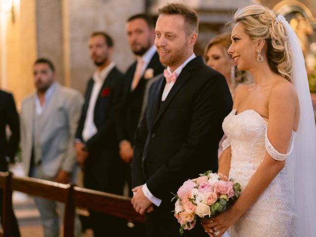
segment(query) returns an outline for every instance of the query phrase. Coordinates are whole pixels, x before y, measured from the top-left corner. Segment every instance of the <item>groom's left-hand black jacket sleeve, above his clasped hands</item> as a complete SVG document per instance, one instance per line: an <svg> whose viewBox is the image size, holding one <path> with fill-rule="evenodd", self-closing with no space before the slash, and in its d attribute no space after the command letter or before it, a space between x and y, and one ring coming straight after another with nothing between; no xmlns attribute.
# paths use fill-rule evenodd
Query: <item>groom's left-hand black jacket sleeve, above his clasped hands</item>
<svg viewBox="0 0 316 237"><path fill-rule="evenodd" d="M145 178L143 176L142 168L142 157L143 151L146 143L146 138L148 136L147 128L147 109L145 109L142 121L136 131L134 140L134 154L131 163L131 174L132 174L132 188L137 187L145 183Z"/></svg>

